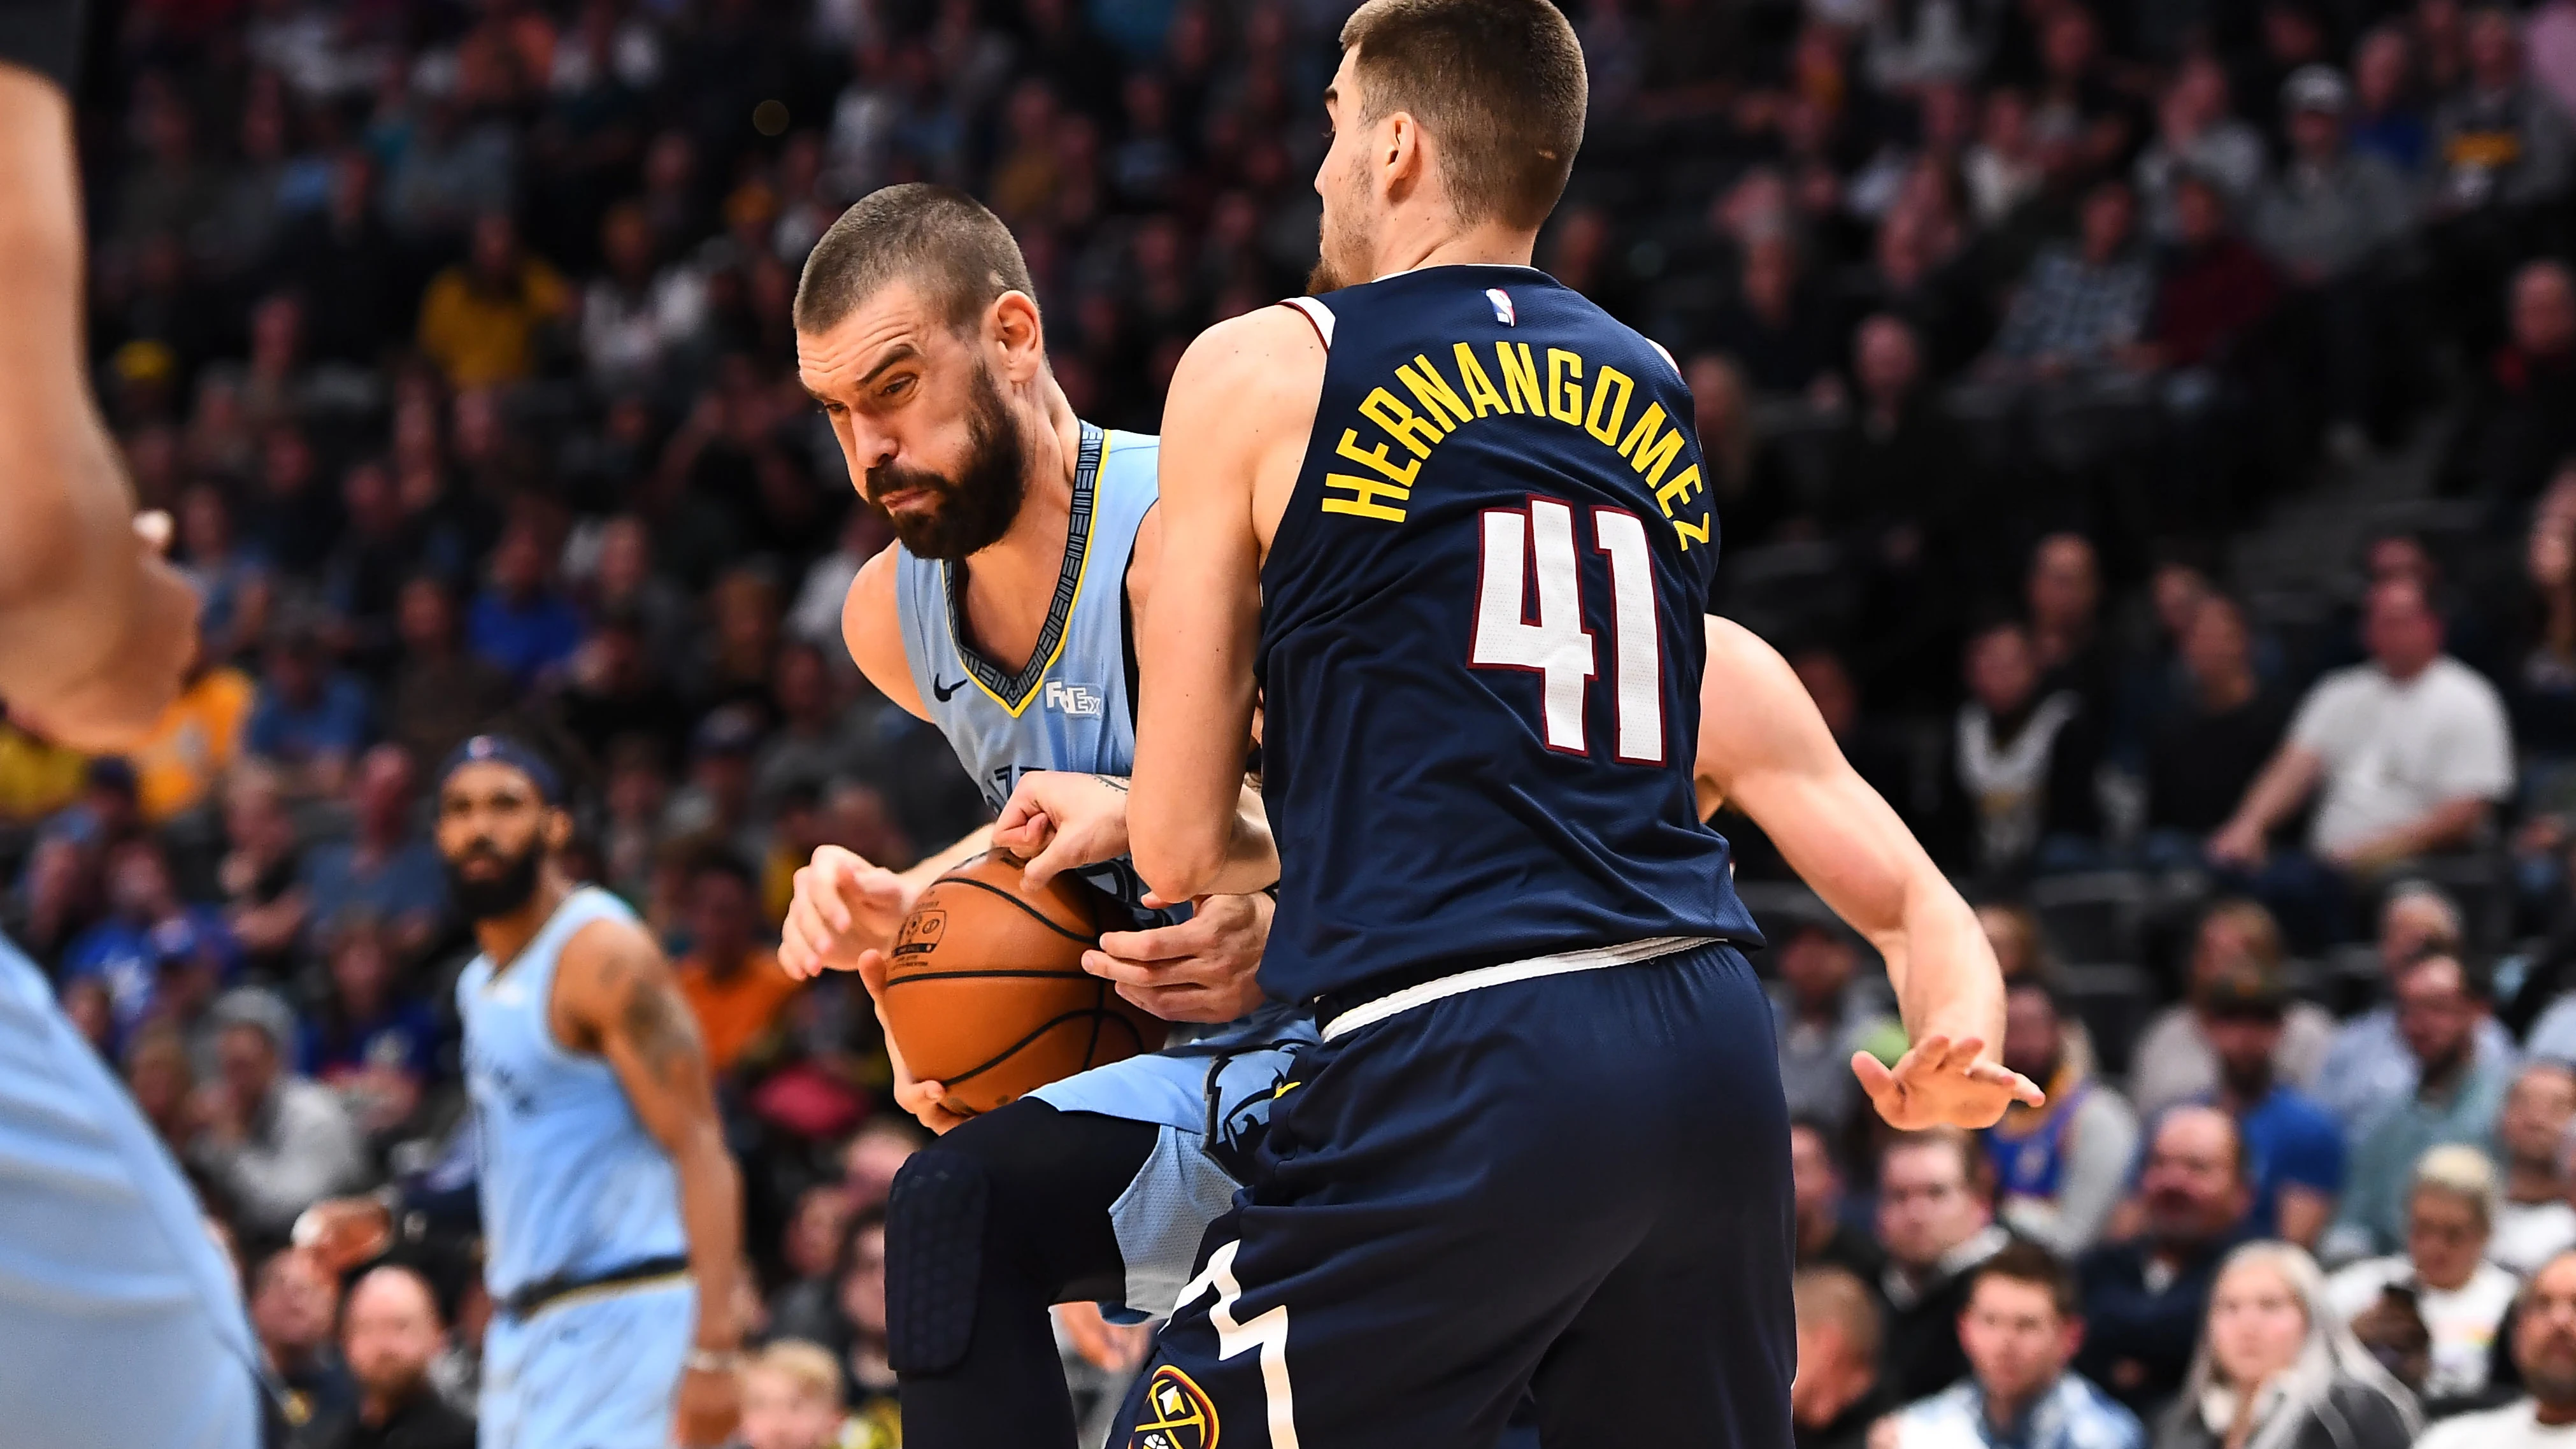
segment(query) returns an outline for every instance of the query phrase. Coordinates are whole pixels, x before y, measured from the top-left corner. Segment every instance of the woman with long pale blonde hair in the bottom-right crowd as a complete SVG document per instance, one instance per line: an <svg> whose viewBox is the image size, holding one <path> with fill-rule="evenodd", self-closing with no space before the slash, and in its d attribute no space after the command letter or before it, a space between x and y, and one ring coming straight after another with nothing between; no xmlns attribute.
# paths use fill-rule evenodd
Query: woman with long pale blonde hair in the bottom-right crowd
<svg viewBox="0 0 2576 1449"><path fill-rule="evenodd" d="M2246 1243L2210 1289L2210 1323L2156 1449L2406 1449L2414 1395L2329 1305L2308 1253Z"/></svg>

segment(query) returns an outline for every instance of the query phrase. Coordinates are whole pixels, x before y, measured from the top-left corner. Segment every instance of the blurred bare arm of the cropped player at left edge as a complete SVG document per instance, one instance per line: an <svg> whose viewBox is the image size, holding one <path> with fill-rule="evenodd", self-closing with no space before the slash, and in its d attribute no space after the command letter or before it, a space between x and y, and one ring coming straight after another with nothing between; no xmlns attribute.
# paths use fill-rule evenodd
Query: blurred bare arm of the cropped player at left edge
<svg viewBox="0 0 2576 1449"><path fill-rule="evenodd" d="M0 697L82 749L142 739L196 654L196 595L137 538L80 360L72 108L0 64Z"/></svg>

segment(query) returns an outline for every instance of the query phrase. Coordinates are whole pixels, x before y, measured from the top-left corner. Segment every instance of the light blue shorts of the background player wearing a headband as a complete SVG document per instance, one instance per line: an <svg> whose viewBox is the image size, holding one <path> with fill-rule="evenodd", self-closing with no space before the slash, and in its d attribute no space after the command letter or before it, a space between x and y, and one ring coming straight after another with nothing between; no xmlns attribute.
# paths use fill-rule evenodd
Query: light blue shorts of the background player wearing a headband
<svg viewBox="0 0 2576 1449"><path fill-rule="evenodd" d="M479 1449L667 1449L698 1287L688 1279L492 1318Z"/></svg>

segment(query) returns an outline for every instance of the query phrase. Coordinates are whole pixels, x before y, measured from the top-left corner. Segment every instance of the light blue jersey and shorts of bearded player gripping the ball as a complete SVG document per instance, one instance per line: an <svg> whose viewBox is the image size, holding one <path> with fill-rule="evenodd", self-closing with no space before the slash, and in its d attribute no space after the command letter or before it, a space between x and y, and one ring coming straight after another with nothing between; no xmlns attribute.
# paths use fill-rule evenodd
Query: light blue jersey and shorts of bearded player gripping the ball
<svg viewBox="0 0 2576 1449"><path fill-rule="evenodd" d="M1159 497L1159 438L1082 425L1064 571L1038 649L1018 674L976 654L969 631L958 628L966 579L951 564L912 553L896 561L894 607L912 687L994 811L1033 770L1136 772L1126 571L1136 530ZM1084 870L1084 878L1126 903L1139 927L1185 916L1139 906L1144 883L1126 860ZM1128 1266L1128 1310L1172 1310L1200 1233L1234 1199L1234 1176L1206 1150L1208 1127L1221 1138L1257 1127L1285 1071L1285 1048L1311 1040L1311 1017L1285 1006L1195 1037L1175 1027L1175 1045L1162 1053L1030 1094L1059 1112L1162 1127L1154 1156L1110 1210Z"/></svg>

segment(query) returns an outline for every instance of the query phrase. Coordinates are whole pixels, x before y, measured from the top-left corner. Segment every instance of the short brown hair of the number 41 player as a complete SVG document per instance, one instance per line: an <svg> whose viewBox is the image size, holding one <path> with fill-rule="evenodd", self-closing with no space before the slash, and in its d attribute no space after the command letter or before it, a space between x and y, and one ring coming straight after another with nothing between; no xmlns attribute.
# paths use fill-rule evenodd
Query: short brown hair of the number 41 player
<svg viewBox="0 0 2576 1449"><path fill-rule="evenodd" d="M1548 0L1368 0L1342 26L1360 124L1412 113L1440 139L1463 224L1538 229L1584 144L1584 49Z"/></svg>

